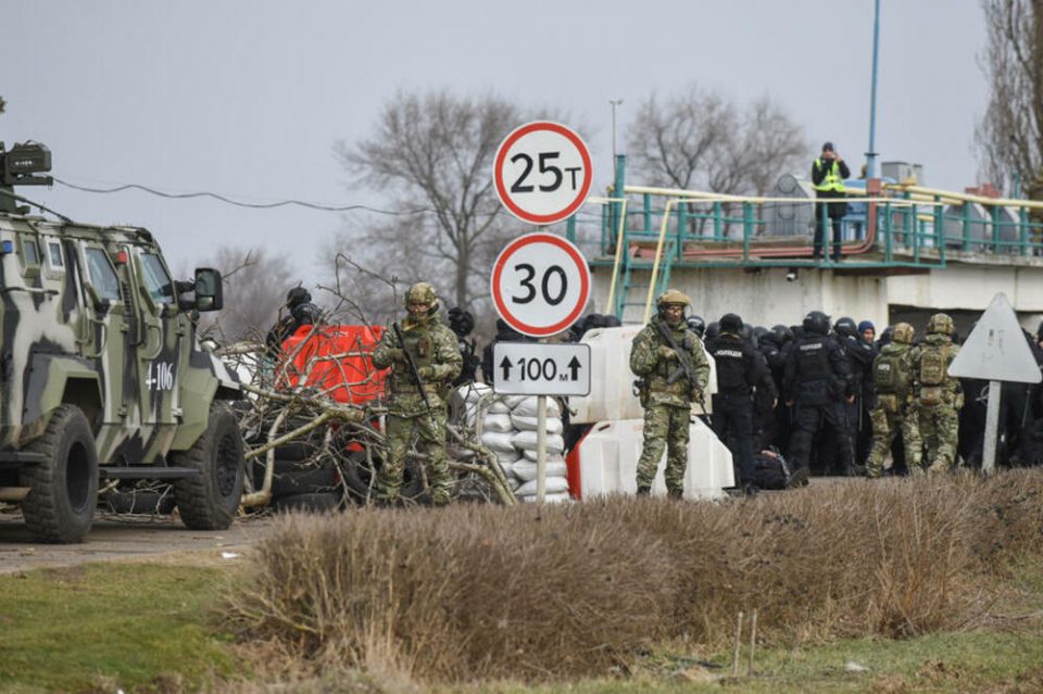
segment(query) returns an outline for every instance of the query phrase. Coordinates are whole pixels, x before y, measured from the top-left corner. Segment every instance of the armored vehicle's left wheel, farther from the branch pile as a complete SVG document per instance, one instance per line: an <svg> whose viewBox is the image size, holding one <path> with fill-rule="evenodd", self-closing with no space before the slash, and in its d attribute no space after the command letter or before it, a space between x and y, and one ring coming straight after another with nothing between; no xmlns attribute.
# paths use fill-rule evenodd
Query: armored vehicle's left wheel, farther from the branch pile
<svg viewBox="0 0 1043 694"><path fill-rule="evenodd" d="M98 506L98 452L87 417L75 405L59 406L28 450L45 459L22 471L26 526L42 542L83 542Z"/></svg>

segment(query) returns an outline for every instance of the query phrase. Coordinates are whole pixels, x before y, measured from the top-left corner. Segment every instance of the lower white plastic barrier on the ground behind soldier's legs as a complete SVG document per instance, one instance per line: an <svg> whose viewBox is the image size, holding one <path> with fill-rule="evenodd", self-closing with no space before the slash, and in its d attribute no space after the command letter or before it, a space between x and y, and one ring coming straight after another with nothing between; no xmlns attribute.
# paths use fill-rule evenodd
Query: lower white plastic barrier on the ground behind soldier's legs
<svg viewBox="0 0 1043 694"><path fill-rule="evenodd" d="M644 438L644 419L605 421L594 428L579 444L578 490L582 499L602 494L637 492L638 458ZM659 460L653 494L666 494L663 470L666 454ZM717 440L709 427L693 419L688 443L688 468L684 471L684 499L718 499L725 487L734 485L731 452ZM577 490L573 490L575 494Z"/></svg>

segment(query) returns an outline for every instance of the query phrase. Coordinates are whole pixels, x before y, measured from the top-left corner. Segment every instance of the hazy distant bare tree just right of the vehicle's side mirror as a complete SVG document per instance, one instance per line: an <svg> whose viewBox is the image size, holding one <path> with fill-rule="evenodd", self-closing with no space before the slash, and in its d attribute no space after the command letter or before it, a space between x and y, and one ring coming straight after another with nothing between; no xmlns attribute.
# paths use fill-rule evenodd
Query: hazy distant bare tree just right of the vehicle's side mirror
<svg viewBox="0 0 1043 694"><path fill-rule="evenodd" d="M278 318L287 290L299 283L290 261L263 248L225 245L203 265L216 267L224 278L225 307L203 315L204 326L217 330L222 342L263 339Z"/></svg>

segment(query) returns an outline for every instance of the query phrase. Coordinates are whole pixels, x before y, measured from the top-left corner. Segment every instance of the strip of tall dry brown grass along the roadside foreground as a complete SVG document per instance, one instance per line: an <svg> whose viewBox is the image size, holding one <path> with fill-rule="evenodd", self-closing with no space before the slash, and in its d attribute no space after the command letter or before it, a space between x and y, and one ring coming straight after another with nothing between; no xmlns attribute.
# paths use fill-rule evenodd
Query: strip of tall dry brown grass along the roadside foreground
<svg viewBox="0 0 1043 694"><path fill-rule="evenodd" d="M910 636L987 614L1043 548L1043 471L855 481L722 504L288 517L229 596L244 638L429 681L604 674L667 641Z"/></svg>

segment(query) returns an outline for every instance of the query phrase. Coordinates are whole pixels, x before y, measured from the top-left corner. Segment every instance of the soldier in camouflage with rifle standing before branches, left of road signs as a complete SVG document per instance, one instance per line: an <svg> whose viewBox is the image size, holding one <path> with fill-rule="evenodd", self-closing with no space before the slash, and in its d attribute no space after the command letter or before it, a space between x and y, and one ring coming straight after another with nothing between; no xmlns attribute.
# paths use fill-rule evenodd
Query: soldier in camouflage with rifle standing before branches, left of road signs
<svg viewBox="0 0 1043 694"><path fill-rule="evenodd" d="M388 329L373 352L374 366L391 367L387 380L390 401L388 451L377 485L385 502L398 500L405 454L415 430L418 452L427 456L431 501L447 504L451 481L445 457L447 396L449 384L460 375L463 359L456 336L438 318L438 296L433 287L427 282L413 285L405 293L405 307L409 317L402 324L402 338L422 382L416 382L394 329ZM424 402L420 388L430 407Z"/></svg>

